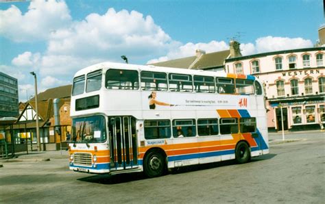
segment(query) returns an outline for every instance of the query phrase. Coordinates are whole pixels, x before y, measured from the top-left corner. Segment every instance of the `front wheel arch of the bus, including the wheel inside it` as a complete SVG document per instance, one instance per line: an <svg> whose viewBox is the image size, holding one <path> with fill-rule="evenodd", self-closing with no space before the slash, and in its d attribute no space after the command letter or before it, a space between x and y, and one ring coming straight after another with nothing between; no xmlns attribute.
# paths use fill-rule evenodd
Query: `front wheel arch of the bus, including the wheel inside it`
<svg viewBox="0 0 325 204"><path fill-rule="evenodd" d="M167 155L163 149L149 149L143 157L143 171L147 177L160 177L167 170Z"/></svg>

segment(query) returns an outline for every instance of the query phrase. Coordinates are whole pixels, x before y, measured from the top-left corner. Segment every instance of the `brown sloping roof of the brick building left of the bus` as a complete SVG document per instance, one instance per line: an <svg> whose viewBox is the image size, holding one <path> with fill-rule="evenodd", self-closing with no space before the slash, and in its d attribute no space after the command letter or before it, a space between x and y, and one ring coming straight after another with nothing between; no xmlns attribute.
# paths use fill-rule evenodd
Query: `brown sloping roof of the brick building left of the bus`
<svg viewBox="0 0 325 204"><path fill-rule="evenodd" d="M38 101L47 101L49 99L64 99L71 97L72 85L59 86L56 88L49 88L45 92L40 92L37 94ZM29 101L35 101L34 97Z"/></svg>

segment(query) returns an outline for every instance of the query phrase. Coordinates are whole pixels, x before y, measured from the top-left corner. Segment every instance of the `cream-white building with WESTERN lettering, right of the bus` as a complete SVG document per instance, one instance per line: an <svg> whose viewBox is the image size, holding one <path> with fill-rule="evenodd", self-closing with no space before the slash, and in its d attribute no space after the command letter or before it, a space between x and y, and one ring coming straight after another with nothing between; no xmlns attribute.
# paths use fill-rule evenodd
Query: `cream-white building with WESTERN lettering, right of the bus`
<svg viewBox="0 0 325 204"><path fill-rule="evenodd" d="M320 129L325 123L325 47L228 58L227 73L254 75L265 85L268 127Z"/></svg>

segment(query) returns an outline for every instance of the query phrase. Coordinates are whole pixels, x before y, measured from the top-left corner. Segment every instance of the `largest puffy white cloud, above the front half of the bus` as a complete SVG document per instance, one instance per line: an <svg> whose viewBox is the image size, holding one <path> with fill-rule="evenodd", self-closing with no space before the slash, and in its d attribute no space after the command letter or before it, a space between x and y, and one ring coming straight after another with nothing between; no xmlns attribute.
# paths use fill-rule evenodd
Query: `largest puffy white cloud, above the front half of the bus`
<svg viewBox="0 0 325 204"><path fill-rule="evenodd" d="M161 55L177 44L154 23L151 16L132 11L89 14L69 28L51 34L47 54L75 55L83 58L120 59Z"/></svg>

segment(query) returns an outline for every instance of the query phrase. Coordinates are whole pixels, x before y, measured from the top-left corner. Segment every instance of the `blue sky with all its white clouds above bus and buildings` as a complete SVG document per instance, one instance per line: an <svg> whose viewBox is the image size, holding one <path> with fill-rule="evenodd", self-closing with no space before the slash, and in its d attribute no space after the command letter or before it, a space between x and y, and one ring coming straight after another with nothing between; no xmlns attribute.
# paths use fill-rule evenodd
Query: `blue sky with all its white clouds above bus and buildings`
<svg viewBox="0 0 325 204"><path fill-rule="evenodd" d="M0 1L0 71L18 79L19 100L71 84L99 62L162 62L229 49L241 53L313 47L322 0Z"/></svg>

